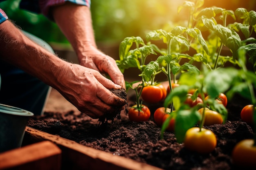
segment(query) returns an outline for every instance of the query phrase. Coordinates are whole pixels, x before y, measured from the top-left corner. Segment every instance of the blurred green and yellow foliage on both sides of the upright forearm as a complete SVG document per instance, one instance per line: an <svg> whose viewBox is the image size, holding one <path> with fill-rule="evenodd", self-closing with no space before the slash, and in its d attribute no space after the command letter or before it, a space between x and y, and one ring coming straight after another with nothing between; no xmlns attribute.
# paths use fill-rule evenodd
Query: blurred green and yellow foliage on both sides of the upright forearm
<svg viewBox="0 0 256 170"><path fill-rule="evenodd" d="M41 14L19 9L19 2L7 0L0 3L0 8L21 29L46 42L68 43L54 22ZM160 29L174 18L177 9L172 5L173 0L92 0L95 38L121 42L127 36L145 36L145 32Z"/></svg>

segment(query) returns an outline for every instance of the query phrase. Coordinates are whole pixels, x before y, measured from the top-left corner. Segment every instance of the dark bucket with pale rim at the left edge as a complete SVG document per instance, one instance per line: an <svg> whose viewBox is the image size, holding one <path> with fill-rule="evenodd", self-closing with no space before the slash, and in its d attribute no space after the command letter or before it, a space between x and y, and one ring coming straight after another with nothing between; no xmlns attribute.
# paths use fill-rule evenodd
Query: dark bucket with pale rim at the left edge
<svg viewBox="0 0 256 170"><path fill-rule="evenodd" d="M20 148L29 117L21 108L0 104L0 152Z"/></svg>

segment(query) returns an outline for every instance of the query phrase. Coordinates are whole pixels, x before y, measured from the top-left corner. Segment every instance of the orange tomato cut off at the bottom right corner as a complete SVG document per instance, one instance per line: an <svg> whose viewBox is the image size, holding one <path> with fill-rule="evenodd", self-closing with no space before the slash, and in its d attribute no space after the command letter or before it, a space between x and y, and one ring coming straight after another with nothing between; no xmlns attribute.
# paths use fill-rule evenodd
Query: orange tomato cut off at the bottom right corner
<svg viewBox="0 0 256 170"><path fill-rule="evenodd" d="M232 152L233 163L246 168L256 168L256 146L253 139L244 139L236 144Z"/></svg>

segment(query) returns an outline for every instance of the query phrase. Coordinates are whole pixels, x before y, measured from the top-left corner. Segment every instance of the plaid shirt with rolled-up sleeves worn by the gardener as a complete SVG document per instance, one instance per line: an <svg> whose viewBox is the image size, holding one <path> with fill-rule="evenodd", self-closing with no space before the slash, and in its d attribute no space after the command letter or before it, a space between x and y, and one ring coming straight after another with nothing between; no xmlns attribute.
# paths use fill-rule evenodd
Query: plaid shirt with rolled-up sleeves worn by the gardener
<svg viewBox="0 0 256 170"><path fill-rule="evenodd" d="M0 2L1 1L4 0L0 0ZM52 16L49 14L49 8L55 5L64 4L65 1L70 1L75 4L85 5L88 7L90 7L91 4L90 0L21 0L20 8L34 13L42 13L52 19ZM0 24L5 20L8 20L8 16L2 9L0 9Z"/></svg>

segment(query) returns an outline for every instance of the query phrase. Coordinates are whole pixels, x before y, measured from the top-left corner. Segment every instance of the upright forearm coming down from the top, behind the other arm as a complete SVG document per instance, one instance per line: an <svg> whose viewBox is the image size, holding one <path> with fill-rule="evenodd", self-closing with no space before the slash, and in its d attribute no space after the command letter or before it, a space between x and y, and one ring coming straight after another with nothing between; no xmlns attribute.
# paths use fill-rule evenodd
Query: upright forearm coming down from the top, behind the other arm
<svg viewBox="0 0 256 170"><path fill-rule="evenodd" d="M52 15L72 44L79 61L83 57L81 54L90 47L97 48L89 7L66 2L64 5L52 7Z"/></svg>

